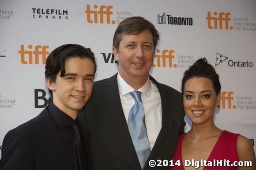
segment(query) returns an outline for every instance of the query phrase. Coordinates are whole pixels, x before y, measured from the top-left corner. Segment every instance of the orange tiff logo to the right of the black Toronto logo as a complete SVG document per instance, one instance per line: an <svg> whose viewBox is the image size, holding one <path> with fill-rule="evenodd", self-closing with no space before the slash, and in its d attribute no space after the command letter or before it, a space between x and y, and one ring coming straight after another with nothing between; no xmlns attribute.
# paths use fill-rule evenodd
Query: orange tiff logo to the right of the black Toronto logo
<svg viewBox="0 0 256 170"><path fill-rule="evenodd" d="M229 27L229 22L231 20L231 18L229 17L231 15L230 12L226 12L226 13L220 12L219 14L217 12L214 12L213 15L214 16L211 16L210 11L207 12L206 20L207 20L209 29L222 30L223 29L223 21L224 21L225 29L233 30L233 26Z"/></svg>

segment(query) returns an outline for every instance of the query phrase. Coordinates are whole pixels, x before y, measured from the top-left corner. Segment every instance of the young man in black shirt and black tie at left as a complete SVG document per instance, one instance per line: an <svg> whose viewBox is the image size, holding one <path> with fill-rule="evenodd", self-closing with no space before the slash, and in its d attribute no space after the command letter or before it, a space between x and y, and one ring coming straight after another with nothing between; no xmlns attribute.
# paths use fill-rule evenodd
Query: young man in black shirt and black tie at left
<svg viewBox="0 0 256 170"><path fill-rule="evenodd" d="M49 54L45 81L53 100L4 137L1 170L90 168L77 115L90 98L95 71L90 48L65 44Z"/></svg>

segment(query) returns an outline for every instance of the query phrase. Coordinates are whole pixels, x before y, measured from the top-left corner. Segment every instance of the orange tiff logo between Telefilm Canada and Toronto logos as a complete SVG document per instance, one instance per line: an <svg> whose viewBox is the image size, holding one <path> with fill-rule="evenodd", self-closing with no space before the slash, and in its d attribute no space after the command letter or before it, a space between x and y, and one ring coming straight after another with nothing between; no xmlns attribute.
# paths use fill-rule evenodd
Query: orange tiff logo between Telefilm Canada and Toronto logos
<svg viewBox="0 0 256 170"><path fill-rule="evenodd" d="M106 6L106 5L102 5L100 6L99 10L91 10L90 9L90 5L86 6L86 10L84 11L87 14L87 22L88 23L98 23L98 18L100 20L99 23L103 24L104 20L107 20L107 24L110 24L110 15L113 14L113 12L111 11L111 9L113 8L113 6ZM94 5L93 6L94 9L97 9L98 6ZM92 18L91 18L92 16ZM104 18L105 16L105 18ZM111 21L112 24L115 24L116 21Z"/></svg>

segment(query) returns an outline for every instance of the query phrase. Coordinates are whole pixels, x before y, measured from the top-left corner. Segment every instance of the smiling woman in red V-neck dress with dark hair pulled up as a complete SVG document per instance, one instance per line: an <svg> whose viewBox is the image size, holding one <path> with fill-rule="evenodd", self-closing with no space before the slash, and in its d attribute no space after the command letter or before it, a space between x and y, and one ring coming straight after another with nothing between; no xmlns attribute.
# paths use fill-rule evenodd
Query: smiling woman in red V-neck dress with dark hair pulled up
<svg viewBox="0 0 256 170"><path fill-rule="evenodd" d="M215 126L213 115L221 99L221 85L205 58L185 71L181 89L192 128L178 137L170 170L256 170L250 140ZM252 165L245 166L244 161Z"/></svg>

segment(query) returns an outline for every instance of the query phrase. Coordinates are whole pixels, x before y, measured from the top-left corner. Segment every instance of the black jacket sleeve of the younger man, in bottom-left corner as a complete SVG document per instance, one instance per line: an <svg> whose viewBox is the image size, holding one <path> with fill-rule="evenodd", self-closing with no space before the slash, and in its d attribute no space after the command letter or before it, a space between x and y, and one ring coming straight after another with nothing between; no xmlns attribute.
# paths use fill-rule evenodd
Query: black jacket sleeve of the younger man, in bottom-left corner
<svg viewBox="0 0 256 170"><path fill-rule="evenodd" d="M17 129L9 131L2 146L1 170L34 170L33 152L26 135Z"/></svg>

